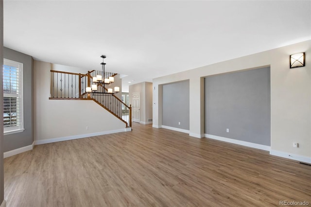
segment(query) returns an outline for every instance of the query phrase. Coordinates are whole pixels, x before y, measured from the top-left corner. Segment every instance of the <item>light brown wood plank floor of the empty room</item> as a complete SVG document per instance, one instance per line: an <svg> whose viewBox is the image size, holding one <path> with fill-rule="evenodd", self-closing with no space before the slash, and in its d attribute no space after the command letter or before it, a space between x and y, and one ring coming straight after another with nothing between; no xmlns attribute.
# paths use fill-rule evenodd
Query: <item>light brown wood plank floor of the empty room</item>
<svg viewBox="0 0 311 207"><path fill-rule="evenodd" d="M311 205L311 166L151 125L4 159L7 207Z"/></svg>

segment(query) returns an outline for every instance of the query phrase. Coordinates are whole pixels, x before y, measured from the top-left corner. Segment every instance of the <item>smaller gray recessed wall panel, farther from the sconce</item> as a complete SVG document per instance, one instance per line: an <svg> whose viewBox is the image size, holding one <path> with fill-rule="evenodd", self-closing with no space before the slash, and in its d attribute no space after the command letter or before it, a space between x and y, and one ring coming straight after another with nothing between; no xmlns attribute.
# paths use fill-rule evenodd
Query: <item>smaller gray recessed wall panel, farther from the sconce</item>
<svg viewBox="0 0 311 207"><path fill-rule="evenodd" d="M189 80L163 85L162 89L162 125L189 130Z"/></svg>

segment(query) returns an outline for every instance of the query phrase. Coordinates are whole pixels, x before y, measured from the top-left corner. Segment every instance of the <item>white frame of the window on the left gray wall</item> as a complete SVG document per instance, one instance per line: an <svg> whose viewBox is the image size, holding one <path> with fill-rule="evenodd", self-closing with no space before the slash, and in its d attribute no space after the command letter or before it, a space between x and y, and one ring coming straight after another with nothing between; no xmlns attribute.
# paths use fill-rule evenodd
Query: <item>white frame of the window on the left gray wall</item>
<svg viewBox="0 0 311 207"><path fill-rule="evenodd" d="M4 135L10 135L10 134L14 134L14 133L19 133L19 132L23 132L24 129L24 99L23 99L23 67L24 64L17 62L17 61L13 61L13 60L9 60L9 59L5 59L3 58L3 67L2 67L2 74L3 74L3 69L4 66L10 66L10 67L14 67L14 68L18 68L18 93L14 95L14 93L5 93L3 91L3 96L2 96L2 107L4 108L4 97L17 97L18 99L18 116L19 116L19 120L18 120L18 125L17 126L2 126L3 127L3 134ZM3 81L3 78L2 78ZM3 84L2 84L2 88L3 88ZM3 112L4 114L4 112ZM4 116L2 115L2 119L4 119Z"/></svg>

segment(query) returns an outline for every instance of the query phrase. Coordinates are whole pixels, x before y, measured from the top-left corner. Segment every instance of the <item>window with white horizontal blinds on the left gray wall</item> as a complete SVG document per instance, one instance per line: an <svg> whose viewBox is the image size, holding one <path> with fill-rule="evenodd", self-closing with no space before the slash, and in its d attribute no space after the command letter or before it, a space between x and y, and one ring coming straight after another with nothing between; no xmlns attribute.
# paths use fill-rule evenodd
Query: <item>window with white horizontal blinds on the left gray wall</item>
<svg viewBox="0 0 311 207"><path fill-rule="evenodd" d="M24 131L23 64L3 59L3 131L4 135Z"/></svg>

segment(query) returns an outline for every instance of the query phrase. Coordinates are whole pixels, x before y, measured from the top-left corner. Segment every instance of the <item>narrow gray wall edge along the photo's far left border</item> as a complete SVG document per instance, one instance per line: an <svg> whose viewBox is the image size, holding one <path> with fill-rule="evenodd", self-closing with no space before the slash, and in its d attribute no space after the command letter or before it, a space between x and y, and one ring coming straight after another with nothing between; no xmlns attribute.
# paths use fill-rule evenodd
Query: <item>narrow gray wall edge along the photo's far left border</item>
<svg viewBox="0 0 311 207"><path fill-rule="evenodd" d="M0 1L0 66L3 67L3 0ZM3 115L3 72L0 72L0 114ZM0 205L4 200L3 179L3 119L0 119Z"/></svg>

